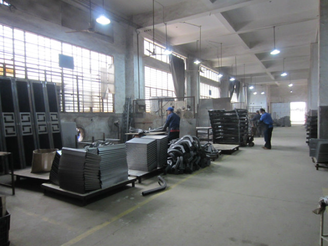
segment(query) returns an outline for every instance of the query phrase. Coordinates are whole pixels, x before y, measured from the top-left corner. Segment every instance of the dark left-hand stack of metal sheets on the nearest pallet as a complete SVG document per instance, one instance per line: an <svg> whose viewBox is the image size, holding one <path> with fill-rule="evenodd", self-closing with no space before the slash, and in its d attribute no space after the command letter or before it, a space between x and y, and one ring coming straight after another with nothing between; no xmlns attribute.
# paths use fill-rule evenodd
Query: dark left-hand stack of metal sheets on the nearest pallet
<svg viewBox="0 0 328 246"><path fill-rule="evenodd" d="M86 150L63 148L58 168L59 187L84 194L100 189L101 157Z"/></svg>

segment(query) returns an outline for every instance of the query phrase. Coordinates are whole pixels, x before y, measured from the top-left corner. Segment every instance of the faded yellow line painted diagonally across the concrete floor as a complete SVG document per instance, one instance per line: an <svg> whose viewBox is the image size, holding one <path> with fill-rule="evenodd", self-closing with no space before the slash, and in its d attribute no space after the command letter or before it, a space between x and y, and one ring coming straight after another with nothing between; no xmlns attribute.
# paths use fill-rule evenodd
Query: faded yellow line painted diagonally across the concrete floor
<svg viewBox="0 0 328 246"><path fill-rule="evenodd" d="M154 200L156 197L162 195L163 193L165 193L165 192L167 192L167 191L169 191L169 190L172 190L174 187L180 185L180 183L185 182L186 180L192 178L193 176L195 176L195 175L197 175L197 174L203 172L203 171L206 170L207 168L208 168L208 167L203 168L203 169L201 169L201 170L199 170L199 171L197 171L197 172L194 172L193 174L188 175L186 178L183 178L183 179L181 179L180 181L176 182L174 185L170 186L170 189L166 189L166 190L164 190L164 191L162 191L162 192L160 192L160 193L157 193L157 194L155 194L155 195L152 195L150 198L146 199L145 201L142 201L142 202L136 204L136 206L134 206L134 207L132 207L132 208L130 208L130 209L128 209L128 210L126 210L126 211L124 211L124 212L122 212L122 213L116 215L116 216L114 216L111 220L106 221L106 222L104 222L104 223L102 223L102 224L99 224L98 226L95 226L94 228L91 228L90 230L86 231L85 233L82 233L81 235L79 235L79 236L73 238L72 240L70 240L70 241L68 241L68 242L66 242L66 243L64 243L64 244L61 244L61 246L70 246L70 245L73 245L73 244L79 242L80 240L82 240L82 239L84 239L84 238L90 236L91 234L93 234L93 233L95 233L95 232L97 232L97 231L103 229L104 227L107 227L110 223L112 223L112 222L114 222L114 221L120 219L121 217L123 217L123 216L125 216L125 215L127 215L127 214L129 214L129 213L131 213L131 212L133 212L134 210L136 210L136 209L138 209L138 208L144 206L146 203L148 203L148 202Z"/></svg>

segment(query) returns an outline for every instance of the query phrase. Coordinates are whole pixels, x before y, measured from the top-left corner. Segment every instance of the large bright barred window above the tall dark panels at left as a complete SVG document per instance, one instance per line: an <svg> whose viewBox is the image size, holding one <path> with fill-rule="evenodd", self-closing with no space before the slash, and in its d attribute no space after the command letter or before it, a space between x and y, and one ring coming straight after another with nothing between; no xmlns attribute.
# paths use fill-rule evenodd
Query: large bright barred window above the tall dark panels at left
<svg viewBox="0 0 328 246"><path fill-rule="evenodd" d="M59 54L73 57L74 70L59 67ZM102 97L100 83L112 63L112 56L0 25L0 76L56 83L61 111L113 112L113 94Z"/></svg>

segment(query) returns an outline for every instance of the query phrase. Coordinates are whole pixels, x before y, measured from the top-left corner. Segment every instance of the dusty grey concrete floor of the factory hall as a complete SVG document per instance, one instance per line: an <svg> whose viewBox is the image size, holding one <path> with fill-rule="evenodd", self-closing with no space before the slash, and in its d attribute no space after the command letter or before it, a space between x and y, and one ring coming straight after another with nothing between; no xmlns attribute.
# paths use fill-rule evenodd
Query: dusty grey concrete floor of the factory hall
<svg viewBox="0 0 328 246"><path fill-rule="evenodd" d="M304 127L275 128L272 150L254 142L191 175L165 176L170 188L146 197L156 177L85 207L30 180L15 196L0 187L11 245L318 245L312 210L328 195L328 173L316 171Z"/></svg>

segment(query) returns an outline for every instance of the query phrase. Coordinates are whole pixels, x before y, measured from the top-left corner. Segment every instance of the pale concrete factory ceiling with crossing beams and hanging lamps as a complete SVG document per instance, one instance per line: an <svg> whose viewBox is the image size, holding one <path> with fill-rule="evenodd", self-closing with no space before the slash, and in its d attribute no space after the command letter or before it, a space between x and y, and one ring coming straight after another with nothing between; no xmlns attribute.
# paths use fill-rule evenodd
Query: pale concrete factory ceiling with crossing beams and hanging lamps
<svg viewBox="0 0 328 246"><path fill-rule="evenodd" d="M66 0L66 2L86 2ZM182 53L199 56L202 63L258 84L306 85L311 43L317 42L317 0L155 0L155 40ZM103 5L102 0L93 0ZM152 38L152 0L104 0L113 17L127 20ZM192 25L190 25L192 24ZM275 28L274 28L275 27ZM279 54L271 55L275 47ZM221 54L222 44L222 54ZM222 57L222 64L221 64ZM237 66L236 66L237 65ZM284 67L284 69L283 69ZM288 76L282 77L282 72ZM247 79L246 79L247 81Z"/></svg>

